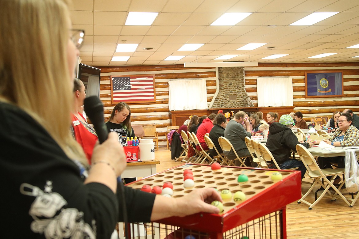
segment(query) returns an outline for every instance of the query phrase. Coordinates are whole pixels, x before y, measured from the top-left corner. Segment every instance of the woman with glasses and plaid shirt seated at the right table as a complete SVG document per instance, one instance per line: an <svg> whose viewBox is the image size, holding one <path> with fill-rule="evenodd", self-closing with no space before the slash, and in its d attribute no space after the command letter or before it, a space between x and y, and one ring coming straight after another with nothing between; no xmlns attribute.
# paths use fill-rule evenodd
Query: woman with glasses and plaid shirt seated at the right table
<svg viewBox="0 0 359 239"><path fill-rule="evenodd" d="M330 137L329 140L321 141L331 144L335 147L340 146L359 146L359 130L353 125L353 117L349 113L342 113L338 120L339 129ZM314 144L319 144L314 142ZM338 168L344 168L344 156L338 157L318 157L318 165L320 168L332 168L330 162L338 163ZM339 183L338 181L334 181Z"/></svg>

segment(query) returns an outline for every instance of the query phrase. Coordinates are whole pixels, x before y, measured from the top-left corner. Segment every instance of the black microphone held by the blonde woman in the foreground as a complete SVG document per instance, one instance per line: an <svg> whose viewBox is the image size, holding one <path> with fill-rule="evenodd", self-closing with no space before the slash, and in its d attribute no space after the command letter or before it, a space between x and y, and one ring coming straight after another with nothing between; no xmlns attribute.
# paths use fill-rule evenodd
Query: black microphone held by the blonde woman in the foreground
<svg viewBox="0 0 359 239"><path fill-rule="evenodd" d="M84 110L96 130L98 141L102 144L108 137L107 127L104 123L102 101L95 95L86 97Z"/></svg>

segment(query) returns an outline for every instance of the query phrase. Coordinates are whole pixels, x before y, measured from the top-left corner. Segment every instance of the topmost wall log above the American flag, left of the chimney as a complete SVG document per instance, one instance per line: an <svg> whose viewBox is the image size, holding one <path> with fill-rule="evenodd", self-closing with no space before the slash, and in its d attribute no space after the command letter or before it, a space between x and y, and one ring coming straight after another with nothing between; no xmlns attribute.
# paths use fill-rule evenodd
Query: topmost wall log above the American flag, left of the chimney
<svg viewBox="0 0 359 239"><path fill-rule="evenodd" d="M183 64L175 65L134 65L134 66L99 66L97 68L101 69L103 73L109 72L123 72L123 75L126 75L126 71L174 71L174 70L194 70L194 69L213 69L215 67L184 67Z"/></svg>

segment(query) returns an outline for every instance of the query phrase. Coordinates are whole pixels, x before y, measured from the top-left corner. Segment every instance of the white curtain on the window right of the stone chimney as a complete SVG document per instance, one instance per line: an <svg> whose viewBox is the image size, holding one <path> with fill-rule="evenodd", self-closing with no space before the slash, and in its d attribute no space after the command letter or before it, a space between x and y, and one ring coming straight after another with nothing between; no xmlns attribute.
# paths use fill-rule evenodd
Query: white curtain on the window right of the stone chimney
<svg viewBox="0 0 359 239"><path fill-rule="evenodd" d="M258 77L258 106L293 106L292 77Z"/></svg>

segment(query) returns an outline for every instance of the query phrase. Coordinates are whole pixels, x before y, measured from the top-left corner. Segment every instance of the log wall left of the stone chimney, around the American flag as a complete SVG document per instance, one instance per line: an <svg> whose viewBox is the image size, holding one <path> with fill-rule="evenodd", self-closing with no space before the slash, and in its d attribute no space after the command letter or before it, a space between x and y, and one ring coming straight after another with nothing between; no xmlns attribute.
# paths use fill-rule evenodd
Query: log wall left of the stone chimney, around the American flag
<svg viewBox="0 0 359 239"><path fill-rule="evenodd" d="M116 104L111 103L111 75L155 75L155 103L128 103L131 108L131 124L155 125L159 145L166 145L167 126L171 126L168 107L168 81L172 79L205 79L207 104L209 105L216 92L215 68L184 68L181 65L156 66L113 66L97 67L101 69L100 99L104 104L104 116L108 118ZM189 115L188 115L189 116Z"/></svg>

